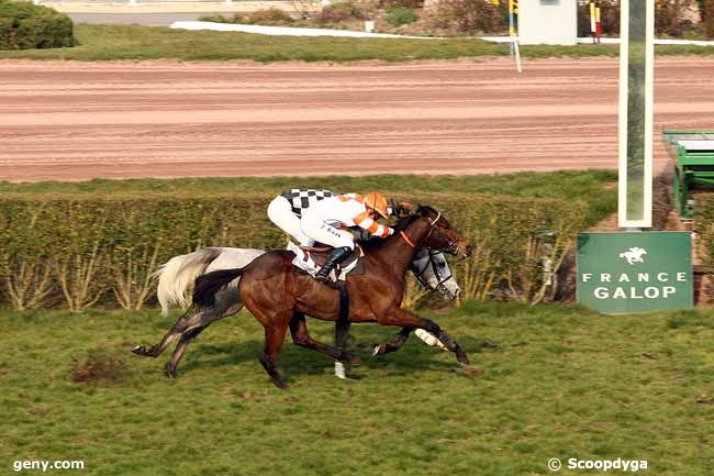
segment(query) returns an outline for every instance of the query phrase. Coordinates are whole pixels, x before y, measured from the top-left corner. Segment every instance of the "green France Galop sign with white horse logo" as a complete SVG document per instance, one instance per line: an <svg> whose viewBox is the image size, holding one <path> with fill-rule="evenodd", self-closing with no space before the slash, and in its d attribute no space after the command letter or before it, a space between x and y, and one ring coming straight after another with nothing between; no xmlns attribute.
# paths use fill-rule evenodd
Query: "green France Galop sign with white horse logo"
<svg viewBox="0 0 714 476"><path fill-rule="evenodd" d="M581 233L578 302L601 312L691 308L687 232Z"/></svg>

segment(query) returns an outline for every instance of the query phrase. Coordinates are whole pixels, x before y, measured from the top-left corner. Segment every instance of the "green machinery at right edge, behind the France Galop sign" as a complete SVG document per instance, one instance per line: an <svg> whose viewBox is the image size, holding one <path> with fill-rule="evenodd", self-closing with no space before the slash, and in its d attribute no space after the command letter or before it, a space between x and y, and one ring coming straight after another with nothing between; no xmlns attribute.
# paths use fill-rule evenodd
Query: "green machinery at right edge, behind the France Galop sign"
<svg viewBox="0 0 714 476"><path fill-rule="evenodd" d="M679 217L691 220L691 190L714 189L714 131L665 131L674 160L674 202Z"/></svg>

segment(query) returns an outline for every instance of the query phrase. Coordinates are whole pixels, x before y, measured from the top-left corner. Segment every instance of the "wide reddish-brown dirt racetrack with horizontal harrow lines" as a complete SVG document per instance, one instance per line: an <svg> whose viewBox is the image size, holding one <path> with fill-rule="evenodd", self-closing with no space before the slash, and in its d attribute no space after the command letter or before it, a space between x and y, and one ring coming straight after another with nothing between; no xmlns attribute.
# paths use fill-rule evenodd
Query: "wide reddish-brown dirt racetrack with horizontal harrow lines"
<svg viewBox="0 0 714 476"><path fill-rule="evenodd" d="M714 58L657 58L656 132L714 129ZM0 179L616 168L617 59L0 62ZM658 166L667 160L656 135Z"/></svg>

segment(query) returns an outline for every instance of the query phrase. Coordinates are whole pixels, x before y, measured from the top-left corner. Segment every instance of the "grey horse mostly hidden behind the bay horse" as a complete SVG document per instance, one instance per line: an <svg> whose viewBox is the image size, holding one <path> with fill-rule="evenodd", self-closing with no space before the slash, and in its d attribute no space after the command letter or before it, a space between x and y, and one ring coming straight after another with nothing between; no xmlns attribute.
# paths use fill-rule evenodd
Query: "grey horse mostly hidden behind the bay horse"
<svg viewBox="0 0 714 476"><path fill-rule="evenodd" d="M219 269L247 266L264 253L263 250L252 248L207 247L186 255L174 256L161 265L154 275L158 279L156 295L161 305L161 314L168 316L171 306L179 306L185 309L191 306L191 289L199 276ZM446 258L439 252L421 250L412 263L412 272L425 288L439 291L447 299L458 298L461 291L456 279L451 276ZM137 345L132 352L141 356L158 357L178 339L179 342L174 350L174 354L165 366L166 375L171 378L176 377L176 368L189 344L209 324L233 316L243 308L241 295L238 294L238 281L239 278L219 291L215 295L215 305L211 309L202 309L182 316L156 345L148 348L144 345ZM392 342L375 345L372 355L397 351L406 341L410 332L402 331ZM426 332L416 335L427 345L440 347L440 342L435 336ZM336 366L335 375L344 378L344 369Z"/></svg>

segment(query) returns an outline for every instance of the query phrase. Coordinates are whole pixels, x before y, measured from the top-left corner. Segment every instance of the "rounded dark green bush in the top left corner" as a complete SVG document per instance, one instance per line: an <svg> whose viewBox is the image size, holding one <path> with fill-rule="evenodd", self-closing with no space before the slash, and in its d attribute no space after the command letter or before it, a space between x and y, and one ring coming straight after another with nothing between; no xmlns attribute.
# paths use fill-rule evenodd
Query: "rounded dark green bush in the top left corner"
<svg viewBox="0 0 714 476"><path fill-rule="evenodd" d="M65 13L29 1L0 0L0 49L74 45L72 22Z"/></svg>

